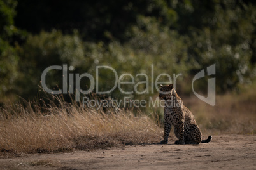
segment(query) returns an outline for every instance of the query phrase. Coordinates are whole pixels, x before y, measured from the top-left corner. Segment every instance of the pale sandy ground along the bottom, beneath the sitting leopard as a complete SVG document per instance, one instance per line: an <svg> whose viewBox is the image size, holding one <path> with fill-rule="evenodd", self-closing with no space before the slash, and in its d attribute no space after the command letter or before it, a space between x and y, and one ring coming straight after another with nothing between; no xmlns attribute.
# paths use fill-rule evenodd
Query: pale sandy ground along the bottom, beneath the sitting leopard
<svg viewBox="0 0 256 170"><path fill-rule="evenodd" d="M204 136L206 137L206 136ZM0 169L256 169L256 136L213 136L200 145L132 145L0 159Z"/></svg>

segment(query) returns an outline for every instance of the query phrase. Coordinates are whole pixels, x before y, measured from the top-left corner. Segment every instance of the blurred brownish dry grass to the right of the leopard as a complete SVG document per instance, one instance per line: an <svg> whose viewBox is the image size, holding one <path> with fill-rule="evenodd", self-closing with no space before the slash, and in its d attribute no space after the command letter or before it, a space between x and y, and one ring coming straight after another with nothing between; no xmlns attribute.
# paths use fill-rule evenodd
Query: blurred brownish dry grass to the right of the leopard
<svg viewBox="0 0 256 170"><path fill-rule="evenodd" d="M240 93L217 95L211 107L191 96L183 98L203 134L256 134L256 89L244 87Z"/></svg>

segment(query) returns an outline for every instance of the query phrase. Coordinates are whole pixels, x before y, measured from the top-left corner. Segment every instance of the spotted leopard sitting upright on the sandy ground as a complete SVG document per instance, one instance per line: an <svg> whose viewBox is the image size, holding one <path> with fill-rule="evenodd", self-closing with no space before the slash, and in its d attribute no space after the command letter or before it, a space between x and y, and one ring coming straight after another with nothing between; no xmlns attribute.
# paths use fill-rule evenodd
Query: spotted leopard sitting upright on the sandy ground
<svg viewBox="0 0 256 170"><path fill-rule="evenodd" d="M167 144L171 127L174 127L174 134L178 138L174 144L209 143L212 136L202 140L202 131L196 123L192 112L185 107L180 96L175 91L173 84L160 85L160 100L165 101L164 107L164 140L160 144Z"/></svg>

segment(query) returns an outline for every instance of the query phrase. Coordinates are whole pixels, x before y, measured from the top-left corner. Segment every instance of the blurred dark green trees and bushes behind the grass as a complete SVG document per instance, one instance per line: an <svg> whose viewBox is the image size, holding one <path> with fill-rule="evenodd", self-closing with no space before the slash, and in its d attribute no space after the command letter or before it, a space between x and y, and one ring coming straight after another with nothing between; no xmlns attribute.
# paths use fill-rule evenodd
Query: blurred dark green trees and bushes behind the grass
<svg viewBox="0 0 256 170"><path fill-rule="evenodd" d="M72 65L71 73L93 76L97 65L108 65L119 76L150 77L153 64L155 77L181 73L178 91L186 95L194 75L213 63L217 93L239 92L255 81L256 1L0 0L2 104L18 96L39 98L41 73L50 65ZM99 89L113 87L111 72L100 75ZM62 71L51 72L46 82L61 88ZM88 84L83 79L80 85L86 90ZM207 92L206 84L207 77L198 81L197 91ZM145 84L138 88L143 91ZM110 95L124 97L118 89Z"/></svg>

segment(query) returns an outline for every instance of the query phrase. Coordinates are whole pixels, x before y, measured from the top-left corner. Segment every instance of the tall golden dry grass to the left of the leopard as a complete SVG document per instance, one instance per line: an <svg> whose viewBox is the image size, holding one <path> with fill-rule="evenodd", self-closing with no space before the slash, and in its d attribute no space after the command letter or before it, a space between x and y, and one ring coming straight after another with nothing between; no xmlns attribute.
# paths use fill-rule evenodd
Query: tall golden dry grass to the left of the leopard
<svg viewBox="0 0 256 170"><path fill-rule="evenodd" d="M27 103L1 109L2 152L68 152L159 141L162 129L144 114L92 110L78 105Z"/></svg>

